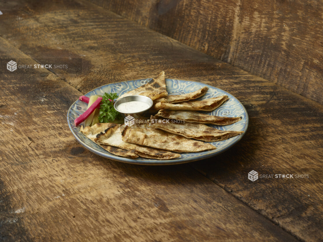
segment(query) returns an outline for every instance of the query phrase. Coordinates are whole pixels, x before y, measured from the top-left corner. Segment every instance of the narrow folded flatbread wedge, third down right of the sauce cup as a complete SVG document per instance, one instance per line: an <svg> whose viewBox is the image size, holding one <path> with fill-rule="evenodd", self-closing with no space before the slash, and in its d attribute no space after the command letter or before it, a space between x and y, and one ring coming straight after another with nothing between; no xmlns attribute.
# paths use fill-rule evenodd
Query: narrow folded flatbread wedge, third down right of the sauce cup
<svg viewBox="0 0 323 242"><path fill-rule="evenodd" d="M186 110L165 110L161 109L155 115L156 117L184 120L189 123L203 123L214 125L229 125L241 120L241 117L219 117L207 114L201 114L195 111Z"/></svg>

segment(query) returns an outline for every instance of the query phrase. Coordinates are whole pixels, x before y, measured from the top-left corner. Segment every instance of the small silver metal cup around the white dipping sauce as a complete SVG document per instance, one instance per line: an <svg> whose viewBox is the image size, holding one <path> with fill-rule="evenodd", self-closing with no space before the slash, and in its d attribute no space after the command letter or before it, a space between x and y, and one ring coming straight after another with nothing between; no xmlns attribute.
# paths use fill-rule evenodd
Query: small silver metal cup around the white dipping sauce
<svg viewBox="0 0 323 242"><path fill-rule="evenodd" d="M132 101L139 101L139 102L147 103L149 105L149 107L140 111L140 112L136 112L136 113L124 113L118 109L118 106L121 103L127 103L127 102L132 102ZM123 118L125 118L129 115L134 118L141 118L141 117L147 117L149 115L149 109L152 107L152 105L153 105L153 101L151 100L150 97L141 96L141 95L133 95L133 96L125 96L120 99L117 99L117 101L114 103L114 109L117 110L122 115Z"/></svg>

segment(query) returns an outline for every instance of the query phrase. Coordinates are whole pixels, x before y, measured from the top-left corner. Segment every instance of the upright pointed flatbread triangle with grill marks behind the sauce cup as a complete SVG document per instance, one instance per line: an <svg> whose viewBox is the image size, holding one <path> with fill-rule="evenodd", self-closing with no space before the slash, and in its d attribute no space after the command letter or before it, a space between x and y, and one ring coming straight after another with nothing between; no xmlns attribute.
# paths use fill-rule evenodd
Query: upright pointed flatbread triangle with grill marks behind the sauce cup
<svg viewBox="0 0 323 242"><path fill-rule="evenodd" d="M122 94L119 98L133 95L148 96L152 100L167 96L165 72L162 71L157 77L153 78L150 82L147 82L146 84L134 90Z"/></svg>

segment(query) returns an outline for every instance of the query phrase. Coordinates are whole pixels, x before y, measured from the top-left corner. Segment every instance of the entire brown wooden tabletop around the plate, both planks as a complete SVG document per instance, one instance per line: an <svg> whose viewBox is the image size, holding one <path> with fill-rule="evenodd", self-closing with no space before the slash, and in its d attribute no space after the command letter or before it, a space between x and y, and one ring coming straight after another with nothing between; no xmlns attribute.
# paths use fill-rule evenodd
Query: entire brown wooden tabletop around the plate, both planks
<svg viewBox="0 0 323 242"><path fill-rule="evenodd" d="M322 105L86 1L0 2L0 58L82 71L0 71L0 240L321 241ZM139 166L96 156L66 121L78 96L153 77L200 81L246 107L218 156ZM308 174L259 178L247 174Z"/></svg>

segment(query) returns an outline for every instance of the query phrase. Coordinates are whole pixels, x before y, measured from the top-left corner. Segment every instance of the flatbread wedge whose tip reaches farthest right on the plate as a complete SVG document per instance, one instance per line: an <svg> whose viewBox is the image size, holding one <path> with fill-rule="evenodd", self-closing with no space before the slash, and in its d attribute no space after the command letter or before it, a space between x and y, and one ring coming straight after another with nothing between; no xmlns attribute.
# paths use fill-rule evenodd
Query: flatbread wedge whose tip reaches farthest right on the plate
<svg viewBox="0 0 323 242"><path fill-rule="evenodd" d="M156 117L151 116L151 119ZM221 141L243 133L243 131L226 131L209 127L200 123L149 123L149 127L158 128L172 134L181 135L186 138L203 140L206 142Z"/></svg>

